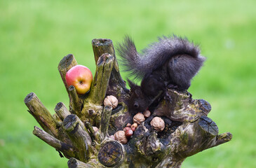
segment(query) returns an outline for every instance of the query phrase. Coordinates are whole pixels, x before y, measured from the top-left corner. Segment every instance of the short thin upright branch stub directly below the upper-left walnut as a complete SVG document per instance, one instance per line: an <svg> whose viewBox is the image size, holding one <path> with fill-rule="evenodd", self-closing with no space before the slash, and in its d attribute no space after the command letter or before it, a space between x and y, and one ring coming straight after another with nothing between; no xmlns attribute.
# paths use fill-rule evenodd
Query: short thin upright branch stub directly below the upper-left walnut
<svg viewBox="0 0 256 168"><path fill-rule="evenodd" d="M107 137L107 131L109 130L109 119L112 112L112 106L105 106L102 112L101 122L100 122L100 132L103 139Z"/></svg>

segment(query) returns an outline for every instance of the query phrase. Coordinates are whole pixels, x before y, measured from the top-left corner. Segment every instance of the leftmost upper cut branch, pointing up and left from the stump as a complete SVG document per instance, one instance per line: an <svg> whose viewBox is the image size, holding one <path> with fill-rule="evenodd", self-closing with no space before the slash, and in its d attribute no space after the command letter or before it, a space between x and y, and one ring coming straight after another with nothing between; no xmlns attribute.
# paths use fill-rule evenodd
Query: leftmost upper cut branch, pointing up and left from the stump
<svg viewBox="0 0 256 168"><path fill-rule="evenodd" d="M53 116L51 116L50 112L43 106L36 94L34 94L34 92L27 94L24 102L29 109L29 113L36 119L37 123L41 125L43 130L54 137L58 137L59 134L56 124L58 122L54 120Z"/></svg>

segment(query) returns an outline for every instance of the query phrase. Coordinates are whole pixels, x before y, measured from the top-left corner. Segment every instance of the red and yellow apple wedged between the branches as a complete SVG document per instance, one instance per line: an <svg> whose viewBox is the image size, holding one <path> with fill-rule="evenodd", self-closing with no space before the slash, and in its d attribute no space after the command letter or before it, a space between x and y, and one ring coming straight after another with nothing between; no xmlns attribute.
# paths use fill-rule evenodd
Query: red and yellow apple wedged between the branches
<svg viewBox="0 0 256 168"><path fill-rule="evenodd" d="M85 94L90 90L90 85L93 82L93 73L86 66L73 66L66 73L67 85L74 85L77 94Z"/></svg>

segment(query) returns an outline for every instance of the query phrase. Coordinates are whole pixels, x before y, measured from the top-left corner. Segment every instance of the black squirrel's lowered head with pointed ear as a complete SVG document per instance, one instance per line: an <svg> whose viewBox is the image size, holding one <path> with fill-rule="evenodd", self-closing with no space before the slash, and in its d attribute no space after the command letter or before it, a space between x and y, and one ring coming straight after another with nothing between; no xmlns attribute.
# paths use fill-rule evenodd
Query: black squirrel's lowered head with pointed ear
<svg viewBox="0 0 256 168"><path fill-rule="evenodd" d="M128 102L128 109L130 113L144 112L149 106L149 100L145 97L139 85L135 85L128 80L130 86L130 99Z"/></svg>

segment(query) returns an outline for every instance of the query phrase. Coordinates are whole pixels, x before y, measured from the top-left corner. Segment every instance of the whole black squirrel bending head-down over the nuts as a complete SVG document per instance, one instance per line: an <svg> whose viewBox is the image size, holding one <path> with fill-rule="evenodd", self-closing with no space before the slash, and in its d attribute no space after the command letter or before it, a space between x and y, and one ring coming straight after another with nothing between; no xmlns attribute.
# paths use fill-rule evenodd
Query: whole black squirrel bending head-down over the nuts
<svg viewBox="0 0 256 168"><path fill-rule="evenodd" d="M199 71L205 57L198 45L175 35L159 37L139 54L133 40L126 36L117 48L121 64L130 76L142 79L141 85L130 85L128 109L131 113L145 111L156 99L165 95L167 88L187 90L191 78ZM168 96L167 96L168 97ZM171 98L168 97L171 101Z"/></svg>

